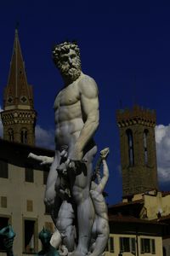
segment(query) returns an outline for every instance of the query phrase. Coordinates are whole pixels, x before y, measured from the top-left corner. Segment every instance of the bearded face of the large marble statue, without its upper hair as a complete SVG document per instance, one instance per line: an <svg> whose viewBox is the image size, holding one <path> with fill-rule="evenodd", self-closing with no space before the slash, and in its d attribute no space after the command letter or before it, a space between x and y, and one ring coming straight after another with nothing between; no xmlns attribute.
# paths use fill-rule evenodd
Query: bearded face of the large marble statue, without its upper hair
<svg viewBox="0 0 170 256"><path fill-rule="evenodd" d="M61 54L58 67L63 76L76 80L81 73L80 58L76 51L70 49L68 53Z"/></svg>

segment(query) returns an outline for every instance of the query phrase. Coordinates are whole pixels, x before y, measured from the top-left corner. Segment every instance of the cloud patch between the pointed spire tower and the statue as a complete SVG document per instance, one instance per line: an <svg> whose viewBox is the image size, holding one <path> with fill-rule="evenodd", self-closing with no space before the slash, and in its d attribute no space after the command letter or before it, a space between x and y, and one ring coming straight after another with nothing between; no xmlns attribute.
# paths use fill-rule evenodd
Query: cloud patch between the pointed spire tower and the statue
<svg viewBox="0 0 170 256"><path fill-rule="evenodd" d="M45 130L40 125L36 125L36 145L42 148L54 149L54 131Z"/></svg>

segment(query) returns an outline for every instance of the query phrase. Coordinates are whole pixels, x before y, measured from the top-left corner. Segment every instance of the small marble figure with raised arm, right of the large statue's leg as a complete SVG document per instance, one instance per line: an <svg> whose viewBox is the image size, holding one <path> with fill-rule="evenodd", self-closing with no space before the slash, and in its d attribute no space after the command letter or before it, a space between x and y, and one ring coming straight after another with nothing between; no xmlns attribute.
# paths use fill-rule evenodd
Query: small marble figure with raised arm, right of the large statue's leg
<svg viewBox="0 0 170 256"><path fill-rule="evenodd" d="M94 203L95 219L92 229L92 240L90 247L90 256L99 256L105 251L109 238L109 224L107 215L107 206L105 204L104 189L109 178L109 170L106 163L106 157L109 154L109 148L100 151L100 158L94 172L91 182L90 195ZM103 165L103 177L100 177L99 168ZM97 179L97 183L94 180Z"/></svg>

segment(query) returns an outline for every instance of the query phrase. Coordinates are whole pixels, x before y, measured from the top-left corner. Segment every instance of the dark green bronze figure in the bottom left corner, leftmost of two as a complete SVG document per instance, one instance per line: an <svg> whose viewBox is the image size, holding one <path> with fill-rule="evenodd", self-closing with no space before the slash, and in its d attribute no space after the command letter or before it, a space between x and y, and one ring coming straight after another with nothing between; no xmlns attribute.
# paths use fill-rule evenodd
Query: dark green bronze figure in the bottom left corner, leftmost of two
<svg viewBox="0 0 170 256"><path fill-rule="evenodd" d="M13 242L15 233L11 225L8 225L7 227L4 227L2 230L0 230L0 236L3 238L3 245L7 252L7 256L14 256Z"/></svg>

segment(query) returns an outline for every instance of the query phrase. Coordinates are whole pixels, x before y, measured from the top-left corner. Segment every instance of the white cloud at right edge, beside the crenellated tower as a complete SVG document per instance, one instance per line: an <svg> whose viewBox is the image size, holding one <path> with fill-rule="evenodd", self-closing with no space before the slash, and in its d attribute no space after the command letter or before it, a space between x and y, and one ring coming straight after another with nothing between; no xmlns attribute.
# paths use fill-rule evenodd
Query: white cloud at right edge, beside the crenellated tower
<svg viewBox="0 0 170 256"><path fill-rule="evenodd" d="M156 155L160 182L170 181L170 125L156 125Z"/></svg>

